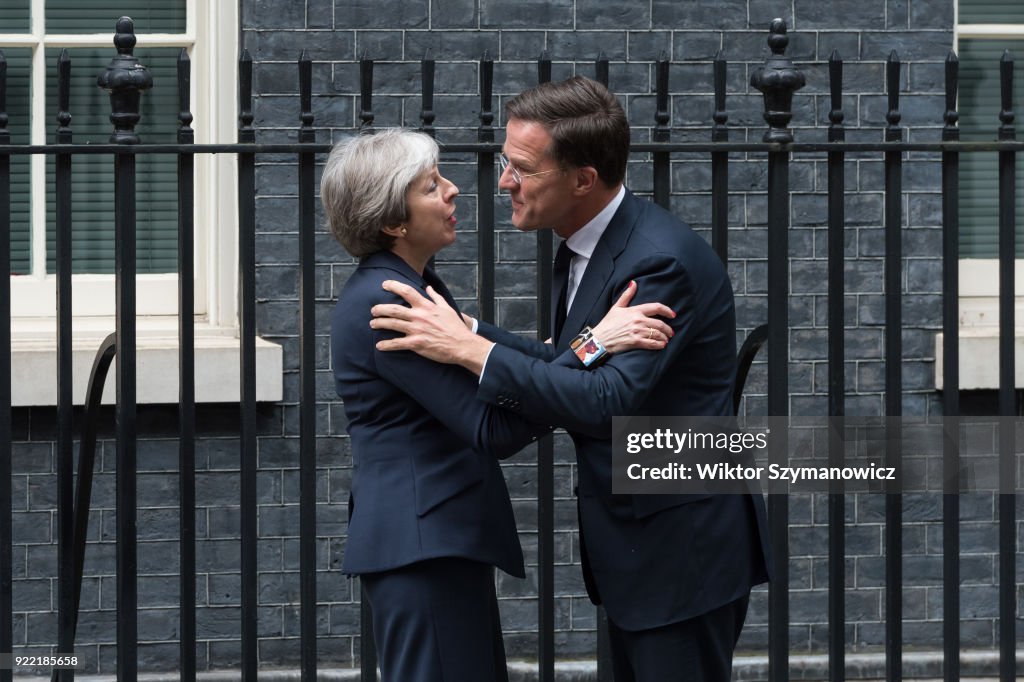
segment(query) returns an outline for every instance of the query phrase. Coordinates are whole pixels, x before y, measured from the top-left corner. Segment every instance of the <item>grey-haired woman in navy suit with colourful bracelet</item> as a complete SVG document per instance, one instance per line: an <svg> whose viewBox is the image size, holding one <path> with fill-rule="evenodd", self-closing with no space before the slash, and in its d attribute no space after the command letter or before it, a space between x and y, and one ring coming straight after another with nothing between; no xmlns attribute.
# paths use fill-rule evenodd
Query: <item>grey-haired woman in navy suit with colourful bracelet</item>
<svg viewBox="0 0 1024 682"><path fill-rule="evenodd" d="M390 129L340 142L323 175L331 230L359 258L331 321L353 464L342 569L366 588L383 682L505 681L494 568L525 572L498 460L551 427L477 400L460 367L378 351L395 334L370 325L374 305L402 302L387 280L458 310L428 266L456 239L459 188L437 161L432 138Z"/></svg>

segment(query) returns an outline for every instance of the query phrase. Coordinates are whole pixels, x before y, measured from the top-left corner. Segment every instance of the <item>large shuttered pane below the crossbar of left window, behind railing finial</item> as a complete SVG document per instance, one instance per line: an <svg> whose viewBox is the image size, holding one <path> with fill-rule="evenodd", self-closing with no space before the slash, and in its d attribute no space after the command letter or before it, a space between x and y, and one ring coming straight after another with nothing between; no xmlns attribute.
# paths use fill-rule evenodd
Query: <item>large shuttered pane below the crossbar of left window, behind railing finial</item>
<svg viewBox="0 0 1024 682"><path fill-rule="evenodd" d="M108 93L96 87L113 50L69 50L72 60L71 128L75 142L108 142ZM143 142L173 142L177 131L178 48L136 49L135 55L153 76L153 89L142 93L141 120L135 130ZM56 58L47 50L46 120L56 119ZM53 141L50 128L47 141ZM106 155L79 155L72 161L72 254L75 272L114 271L114 160ZM177 158L174 155L137 157L136 218L138 271L177 270ZM47 271L53 272L55 214L53 160L47 160L46 249Z"/></svg>

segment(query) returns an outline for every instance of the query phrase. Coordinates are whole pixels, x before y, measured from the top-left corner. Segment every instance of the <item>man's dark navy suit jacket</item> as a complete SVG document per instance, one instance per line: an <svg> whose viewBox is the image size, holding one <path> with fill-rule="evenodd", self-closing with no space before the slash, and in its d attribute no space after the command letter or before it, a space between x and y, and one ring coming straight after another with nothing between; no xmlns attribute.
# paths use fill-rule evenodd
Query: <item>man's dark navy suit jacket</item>
<svg viewBox="0 0 1024 682"><path fill-rule="evenodd" d="M660 351L613 355L596 370L565 360L631 280L634 303L676 311ZM552 324L554 329L554 323ZM625 630L677 623L745 596L768 579L760 495L611 495L613 416L729 416L735 374L732 289L722 262L675 216L627 191L601 237L554 347L490 325L497 341L477 395L564 427L579 462L584 576Z"/></svg>

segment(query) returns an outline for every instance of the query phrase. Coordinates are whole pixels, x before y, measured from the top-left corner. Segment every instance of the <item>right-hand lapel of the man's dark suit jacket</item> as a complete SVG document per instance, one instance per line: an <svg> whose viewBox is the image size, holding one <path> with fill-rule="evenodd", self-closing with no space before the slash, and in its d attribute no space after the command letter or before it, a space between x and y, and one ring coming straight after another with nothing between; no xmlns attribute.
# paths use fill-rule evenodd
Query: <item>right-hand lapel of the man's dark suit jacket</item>
<svg viewBox="0 0 1024 682"><path fill-rule="evenodd" d="M630 232L633 231L633 224L636 222L641 206L640 200L627 189L623 203L618 206L615 214L611 216L608 227L594 247L594 254L591 256L583 280L580 281L580 286L577 288L572 307L565 315L562 333L555 339L555 347L559 350L567 348L569 341L587 326L587 321L593 319L591 313L594 311L595 305L602 300L602 293L607 289L608 282L615 271L615 258L626 248L626 242L629 240ZM600 314L603 315L604 312L602 309Z"/></svg>

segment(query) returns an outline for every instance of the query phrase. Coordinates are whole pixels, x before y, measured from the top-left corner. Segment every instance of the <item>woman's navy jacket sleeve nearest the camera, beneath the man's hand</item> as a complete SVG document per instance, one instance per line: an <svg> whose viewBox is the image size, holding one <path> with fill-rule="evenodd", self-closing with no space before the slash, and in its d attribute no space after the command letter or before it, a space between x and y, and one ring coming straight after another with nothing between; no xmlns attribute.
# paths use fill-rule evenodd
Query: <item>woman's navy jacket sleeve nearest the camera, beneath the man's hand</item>
<svg viewBox="0 0 1024 682"><path fill-rule="evenodd" d="M374 343L394 338L374 332ZM530 421L476 397L476 377L461 367L433 363L411 351L374 350L380 376L410 395L476 452L506 458L551 432L547 421Z"/></svg>

